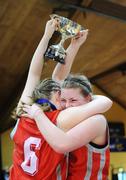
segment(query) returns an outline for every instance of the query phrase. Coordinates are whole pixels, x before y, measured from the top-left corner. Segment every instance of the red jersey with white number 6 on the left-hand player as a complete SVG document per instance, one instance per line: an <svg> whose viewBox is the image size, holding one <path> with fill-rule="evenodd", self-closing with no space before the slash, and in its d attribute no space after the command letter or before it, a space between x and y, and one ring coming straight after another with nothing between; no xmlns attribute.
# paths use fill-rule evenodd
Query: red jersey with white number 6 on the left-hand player
<svg viewBox="0 0 126 180"><path fill-rule="evenodd" d="M58 114L57 110L46 113L55 124ZM12 134L15 148L10 180L66 179L66 155L49 146L34 120L21 117Z"/></svg>

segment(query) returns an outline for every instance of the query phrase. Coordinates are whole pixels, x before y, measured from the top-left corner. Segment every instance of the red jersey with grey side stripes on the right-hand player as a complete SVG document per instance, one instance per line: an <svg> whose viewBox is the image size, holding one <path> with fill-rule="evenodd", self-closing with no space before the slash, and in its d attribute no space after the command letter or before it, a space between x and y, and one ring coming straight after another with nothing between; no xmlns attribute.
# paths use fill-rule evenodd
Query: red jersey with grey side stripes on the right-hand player
<svg viewBox="0 0 126 180"><path fill-rule="evenodd" d="M110 163L108 142L101 148L89 143L70 152L67 180L107 180Z"/></svg>

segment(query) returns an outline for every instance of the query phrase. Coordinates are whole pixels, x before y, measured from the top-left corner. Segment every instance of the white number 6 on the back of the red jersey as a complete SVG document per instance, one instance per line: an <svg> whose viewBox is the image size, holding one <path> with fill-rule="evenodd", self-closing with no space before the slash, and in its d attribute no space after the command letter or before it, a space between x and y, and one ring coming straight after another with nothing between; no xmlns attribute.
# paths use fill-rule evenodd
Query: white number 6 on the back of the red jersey
<svg viewBox="0 0 126 180"><path fill-rule="evenodd" d="M35 154L41 146L41 139L30 137L24 142L24 161L21 163L22 169L30 175L34 175L38 170L39 159Z"/></svg>

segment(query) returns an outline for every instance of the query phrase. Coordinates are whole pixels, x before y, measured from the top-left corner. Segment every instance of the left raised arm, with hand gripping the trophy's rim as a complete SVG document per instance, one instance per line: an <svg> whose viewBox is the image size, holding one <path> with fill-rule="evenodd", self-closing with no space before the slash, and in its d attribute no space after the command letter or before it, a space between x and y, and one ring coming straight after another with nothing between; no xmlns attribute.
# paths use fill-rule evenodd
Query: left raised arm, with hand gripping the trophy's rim
<svg viewBox="0 0 126 180"><path fill-rule="evenodd" d="M56 20L49 20L46 24L44 35L42 39L40 40L40 43L33 55L33 58L30 64L25 88L23 90L23 93L18 103L17 114L20 111L20 106L22 102L25 104L31 104L32 102L31 96L32 96L33 90L36 87L36 85L39 83L40 78L41 78L41 72L42 72L43 63L44 63L44 53L47 49L48 42L57 27L57 23L58 22Z"/></svg>

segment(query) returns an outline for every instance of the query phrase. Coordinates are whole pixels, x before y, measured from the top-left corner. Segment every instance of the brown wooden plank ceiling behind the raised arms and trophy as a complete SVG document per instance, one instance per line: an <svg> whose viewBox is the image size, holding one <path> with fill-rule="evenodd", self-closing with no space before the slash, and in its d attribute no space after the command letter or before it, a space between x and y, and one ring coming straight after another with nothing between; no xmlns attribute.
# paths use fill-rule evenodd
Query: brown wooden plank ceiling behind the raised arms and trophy
<svg viewBox="0 0 126 180"><path fill-rule="evenodd" d="M125 0L1 0L0 1L0 132L14 124L16 106L32 55L49 15L69 17L89 29L72 68L84 73L126 108L126 1ZM45 66L51 76L55 62Z"/></svg>

